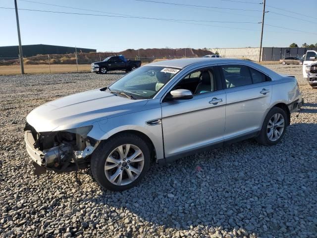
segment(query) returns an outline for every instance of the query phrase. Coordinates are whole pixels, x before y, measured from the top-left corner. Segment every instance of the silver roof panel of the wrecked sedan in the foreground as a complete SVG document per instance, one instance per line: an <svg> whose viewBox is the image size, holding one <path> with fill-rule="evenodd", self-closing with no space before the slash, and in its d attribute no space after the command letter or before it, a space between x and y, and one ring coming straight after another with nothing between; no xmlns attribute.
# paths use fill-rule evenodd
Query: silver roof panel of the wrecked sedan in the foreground
<svg viewBox="0 0 317 238"><path fill-rule="evenodd" d="M165 66L165 67L175 67L175 68L185 68L189 65L199 64L206 62L212 63L242 63L246 60L237 60L237 59L227 59L227 58L186 58L186 59L177 59L177 60L163 60L154 63L149 63L146 65L149 66ZM145 65L145 66L146 66Z"/></svg>

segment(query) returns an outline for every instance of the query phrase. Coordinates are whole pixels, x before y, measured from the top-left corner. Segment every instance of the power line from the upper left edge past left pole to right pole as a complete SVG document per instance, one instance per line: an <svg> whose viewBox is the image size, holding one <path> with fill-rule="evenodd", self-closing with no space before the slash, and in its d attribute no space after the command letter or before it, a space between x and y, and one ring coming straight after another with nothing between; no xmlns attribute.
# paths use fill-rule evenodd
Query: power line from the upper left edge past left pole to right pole
<svg viewBox="0 0 317 238"><path fill-rule="evenodd" d="M3 9L14 9L12 7L0 7ZM148 20L163 20L163 21L193 21L193 22L217 22L217 23L255 23L260 22L234 22L234 21L206 21L206 20L187 20L187 19L168 19L168 18L155 18L155 17L143 17L143 16L114 16L114 15L102 15L102 14L90 14L90 13L79 13L79 12L65 12L65 11L48 11L48 10L37 10L37 9L26 9L18 8L19 10L25 11L39 11L39 12L51 12L51 13L62 13L62 14L74 14L74 15L88 15L88 16L107 16L107 17L119 17L119 18L135 18L135 19L148 19Z"/></svg>

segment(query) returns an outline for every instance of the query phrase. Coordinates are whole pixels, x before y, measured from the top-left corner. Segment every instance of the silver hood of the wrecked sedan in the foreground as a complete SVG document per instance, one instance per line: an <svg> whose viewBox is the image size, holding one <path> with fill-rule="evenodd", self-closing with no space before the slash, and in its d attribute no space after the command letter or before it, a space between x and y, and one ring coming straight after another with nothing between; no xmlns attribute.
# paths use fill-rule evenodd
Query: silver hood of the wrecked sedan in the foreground
<svg viewBox="0 0 317 238"><path fill-rule="evenodd" d="M36 131L58 131L142 110L147 100L131 100L99 89L77 93L34 109L26 118Z"/></svg>

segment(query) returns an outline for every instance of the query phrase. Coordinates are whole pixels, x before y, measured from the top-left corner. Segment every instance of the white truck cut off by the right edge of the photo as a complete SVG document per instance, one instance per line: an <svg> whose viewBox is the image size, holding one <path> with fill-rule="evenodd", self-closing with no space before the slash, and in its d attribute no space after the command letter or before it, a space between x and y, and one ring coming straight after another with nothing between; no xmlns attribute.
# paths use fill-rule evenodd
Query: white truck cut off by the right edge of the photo
<svg viewBox="0 0 317 238"><path fill-rule="evenodd" d="M303 77L313 88L317 88L317 52L307 51L303 62Z"/></svg>

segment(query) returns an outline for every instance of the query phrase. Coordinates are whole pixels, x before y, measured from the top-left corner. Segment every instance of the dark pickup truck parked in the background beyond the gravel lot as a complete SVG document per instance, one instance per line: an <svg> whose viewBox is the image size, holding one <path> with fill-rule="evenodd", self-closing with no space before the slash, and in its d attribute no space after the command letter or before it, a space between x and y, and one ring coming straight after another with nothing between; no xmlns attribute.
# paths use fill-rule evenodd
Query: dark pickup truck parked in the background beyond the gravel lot
<svg viewBox="0 0 317 238"><path fill-rule="evenodd" d="M141 66L140 60L126 60L123 56L110 56L103 61L91 64L91 71L96 73L107 73L111 70L132 71Z"/></svg>

